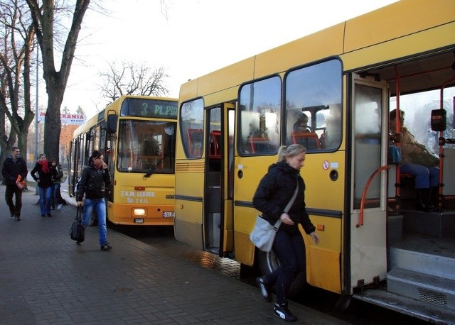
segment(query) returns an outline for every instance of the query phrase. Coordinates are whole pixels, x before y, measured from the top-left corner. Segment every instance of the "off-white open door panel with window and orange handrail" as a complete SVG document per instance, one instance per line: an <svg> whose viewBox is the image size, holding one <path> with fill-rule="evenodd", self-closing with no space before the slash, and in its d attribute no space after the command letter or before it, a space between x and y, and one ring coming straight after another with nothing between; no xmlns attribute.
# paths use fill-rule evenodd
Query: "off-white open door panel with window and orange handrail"
<svg viewBox="0 0 455 325"><path fill-rule="evenodd" d="M353 75L351 287L384 280L387 273L387 83Z"/></svg>

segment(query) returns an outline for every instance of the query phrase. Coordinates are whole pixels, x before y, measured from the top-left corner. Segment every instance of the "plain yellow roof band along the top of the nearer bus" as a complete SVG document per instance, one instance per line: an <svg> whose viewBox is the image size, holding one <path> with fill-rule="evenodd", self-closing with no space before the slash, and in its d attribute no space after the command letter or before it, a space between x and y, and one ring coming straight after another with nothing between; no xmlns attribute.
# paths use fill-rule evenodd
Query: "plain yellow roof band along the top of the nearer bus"
<svg viewBox="0 0 455 325"><path fill-rule="evenodd" d="M419 32L425 34L424 41L419 38L422 34L416 35ZM409 60L410 55L423 55L427 49L453 50L454 44L455 1L401 0L186 82L181 86L179 99L186 101L221 89L237 88L247 80L327 57L341 57L346 72L361 72L377 67L378 62ZM453 63L454 55L447 53L446 60ZM424 87L432 89L441 85L449 73L440 74ZM416 84L402 88L402 92L410 89L416 90Z"/></svg>

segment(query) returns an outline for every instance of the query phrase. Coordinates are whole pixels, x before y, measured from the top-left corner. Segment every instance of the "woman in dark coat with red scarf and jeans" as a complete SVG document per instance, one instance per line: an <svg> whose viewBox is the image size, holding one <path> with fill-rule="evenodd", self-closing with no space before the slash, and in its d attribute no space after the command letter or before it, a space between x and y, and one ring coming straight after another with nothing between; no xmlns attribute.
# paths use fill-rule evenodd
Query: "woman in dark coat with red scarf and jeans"
<svg viewBox="0 0 455 325"><path fill-rule="evenodd" d="M38 172L38 177L36 173ZM38 184L38 192L40 194L40 210L41 216L52 216L50 214L50 204L52 204L52 173L50 172L50 164L45 154L41 153L38 162L30 172L31 177Z"/></svg>

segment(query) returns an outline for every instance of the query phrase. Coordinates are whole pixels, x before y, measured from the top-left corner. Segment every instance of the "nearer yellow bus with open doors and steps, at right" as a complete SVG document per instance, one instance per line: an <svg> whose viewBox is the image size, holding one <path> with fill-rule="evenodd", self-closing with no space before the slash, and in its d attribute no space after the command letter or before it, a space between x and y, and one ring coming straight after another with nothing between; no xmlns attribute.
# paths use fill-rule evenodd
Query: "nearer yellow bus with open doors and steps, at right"
<svg viewBox="0 0 455 325"><path fill-rule="evenodd" d="M308 282L340 294L340 309L354 297L453 321L455 211L449 200L442 211L415 211L387 152L397 107L428 146L454 137L454 53L455 1L402 0L183 84L176 239L262 272L276 268L273 251L250 242L252 197L279 146L302 143L306 207L321 242L304 236L306 277L294 292ZM432 111L443 109L449 127L430 130ZM302 114L308 126L294 131ZM454 146L443 142L448 156ZM440 199L455 194L455 164L444 160Z"/></svg>

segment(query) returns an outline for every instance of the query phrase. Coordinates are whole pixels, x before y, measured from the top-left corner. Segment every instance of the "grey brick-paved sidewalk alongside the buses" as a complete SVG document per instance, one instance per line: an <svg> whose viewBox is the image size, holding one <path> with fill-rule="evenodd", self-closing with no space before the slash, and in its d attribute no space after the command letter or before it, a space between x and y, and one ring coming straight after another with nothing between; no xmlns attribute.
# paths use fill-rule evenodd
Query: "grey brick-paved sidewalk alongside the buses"
<svg viewBox="0 0 455 325"><path fill-rule="evenodd" d="M77 246L68 234L75 206L41 217L30 187L16 221L4 193L0 186L1 324L285 324L256 287L110 228L111 251L100 250L97 227ZM290 308L297 324L346 324Z"/></svg>

